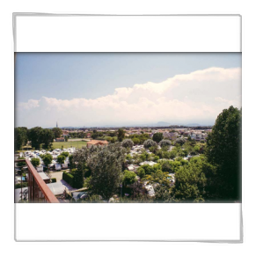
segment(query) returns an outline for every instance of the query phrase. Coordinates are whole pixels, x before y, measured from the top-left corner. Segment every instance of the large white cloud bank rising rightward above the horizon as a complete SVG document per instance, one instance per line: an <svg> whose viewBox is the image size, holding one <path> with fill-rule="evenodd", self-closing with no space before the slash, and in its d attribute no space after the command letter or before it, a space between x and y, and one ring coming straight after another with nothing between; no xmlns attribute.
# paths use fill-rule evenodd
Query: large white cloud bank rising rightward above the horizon
<svg viewBox="0 0 256 256"><path fill-rule="evenodd" d="M116 88L98 99L41 97L18 104L18 126L93 126L157 121L212 121L223 108L240 106L241 69L210 68L161 83ZM40 116L33 121L30 114ZM24 124L26 121L26 124Z"/></svg>

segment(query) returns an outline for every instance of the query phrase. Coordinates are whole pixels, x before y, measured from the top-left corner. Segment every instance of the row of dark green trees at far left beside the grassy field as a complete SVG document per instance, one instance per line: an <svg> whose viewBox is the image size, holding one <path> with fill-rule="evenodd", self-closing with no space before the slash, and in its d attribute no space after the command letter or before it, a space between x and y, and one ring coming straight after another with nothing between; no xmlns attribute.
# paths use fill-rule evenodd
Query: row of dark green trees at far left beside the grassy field
<svg viewBox="0 0 256 256"><path fill-rule="evenodd" d="M40 144L44 149L50 149L55 138L62 136L61 128L14 128L14 145L15 150L22 150L28 141L31 142L32 148L40 149Z"/></svg>

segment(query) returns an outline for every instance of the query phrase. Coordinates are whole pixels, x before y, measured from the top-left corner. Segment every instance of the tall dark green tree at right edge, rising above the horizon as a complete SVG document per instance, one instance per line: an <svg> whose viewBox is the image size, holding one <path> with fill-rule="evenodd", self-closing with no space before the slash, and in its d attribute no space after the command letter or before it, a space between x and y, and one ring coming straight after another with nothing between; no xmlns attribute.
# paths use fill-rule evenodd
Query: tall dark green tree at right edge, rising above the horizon
<svg viewBox="0 0 256 256"><path fill-rule="evenodd" d="M242 108L230 106L217 116L212 132L207 137L208 163L216 166L216 173L208 174L209 187L216 187L216 199L235 201L240 199L242 144Z"/></svg>

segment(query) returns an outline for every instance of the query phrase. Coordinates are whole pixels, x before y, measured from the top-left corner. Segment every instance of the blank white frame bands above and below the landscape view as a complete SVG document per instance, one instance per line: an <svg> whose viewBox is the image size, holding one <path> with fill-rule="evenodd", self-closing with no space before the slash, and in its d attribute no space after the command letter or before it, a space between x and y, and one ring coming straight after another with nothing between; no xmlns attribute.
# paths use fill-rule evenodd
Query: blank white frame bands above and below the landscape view
<svg viewBox="0 0 256 256"><path fill-rule="evenodd" d="M15 52L241 52L241 17L14 13L13 35ZM242 230L241 203L15 204L16 241L242 243Z"/></svg>

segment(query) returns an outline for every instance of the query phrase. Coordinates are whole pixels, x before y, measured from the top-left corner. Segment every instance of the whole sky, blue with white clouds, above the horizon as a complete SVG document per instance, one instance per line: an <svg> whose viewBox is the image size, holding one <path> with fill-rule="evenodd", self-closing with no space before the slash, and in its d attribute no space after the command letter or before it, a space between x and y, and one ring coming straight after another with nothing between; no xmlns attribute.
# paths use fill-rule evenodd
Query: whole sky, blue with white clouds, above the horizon
<svg viewBox="0 0 256 256"><path fill-rule="evenodd" d="M199 123L242 106L240 53L18 53L15 127Z"/></svg>

